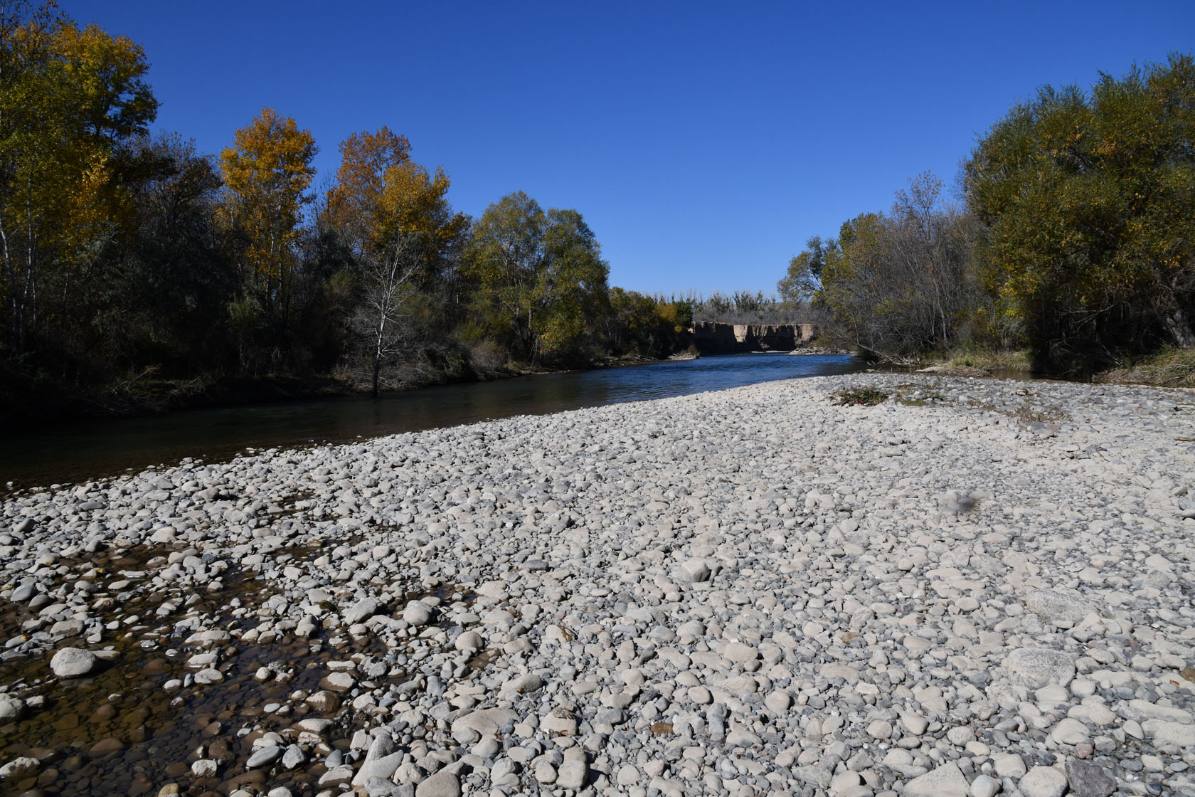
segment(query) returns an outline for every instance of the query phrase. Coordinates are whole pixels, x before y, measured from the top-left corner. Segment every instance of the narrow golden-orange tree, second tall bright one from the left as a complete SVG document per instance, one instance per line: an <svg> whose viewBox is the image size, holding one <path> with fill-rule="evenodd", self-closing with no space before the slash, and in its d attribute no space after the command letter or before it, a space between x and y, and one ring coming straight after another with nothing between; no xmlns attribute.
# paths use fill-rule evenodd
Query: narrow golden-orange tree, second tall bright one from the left
<svg viewBox="0 0 1195 797"><path fill-rule="evenodd" d="M221 215L243 235L243 283L280 331L288 321L299 222L313 198L306 191L317 152L310 130L265 108L220 154L226 186Z"/></svg>

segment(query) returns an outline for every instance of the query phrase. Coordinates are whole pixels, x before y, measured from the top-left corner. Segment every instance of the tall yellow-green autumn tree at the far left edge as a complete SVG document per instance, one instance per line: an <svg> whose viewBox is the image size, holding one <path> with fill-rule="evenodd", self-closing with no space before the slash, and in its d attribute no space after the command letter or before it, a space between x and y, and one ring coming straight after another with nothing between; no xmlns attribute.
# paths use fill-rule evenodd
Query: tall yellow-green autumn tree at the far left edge
<svg viewBox="0 0 1195 797"><path fill-rule="evenodd" d="M0 290L18 357L47 296L60 324L74 318L74 266L130 215L127 143L158 108L147 70L139 45L53 4L0 5Z"/></svg>

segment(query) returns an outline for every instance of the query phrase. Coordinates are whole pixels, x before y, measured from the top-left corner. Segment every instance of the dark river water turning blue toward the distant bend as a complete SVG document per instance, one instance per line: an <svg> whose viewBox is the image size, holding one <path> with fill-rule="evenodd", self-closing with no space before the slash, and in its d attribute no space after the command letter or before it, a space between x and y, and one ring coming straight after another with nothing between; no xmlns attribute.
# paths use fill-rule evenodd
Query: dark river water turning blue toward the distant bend
<svg viewBox="0 0 1195 797"><path fill-rule="evenodd" d="M430 387L378 400L331 398L61 423L0 440L0 490L6 482L18 489L82 482L171 465L185 456L216 461L246 448L345 442L486 418L842 374L862 367L850 355L725 355Z"/></svg>

